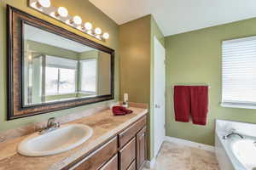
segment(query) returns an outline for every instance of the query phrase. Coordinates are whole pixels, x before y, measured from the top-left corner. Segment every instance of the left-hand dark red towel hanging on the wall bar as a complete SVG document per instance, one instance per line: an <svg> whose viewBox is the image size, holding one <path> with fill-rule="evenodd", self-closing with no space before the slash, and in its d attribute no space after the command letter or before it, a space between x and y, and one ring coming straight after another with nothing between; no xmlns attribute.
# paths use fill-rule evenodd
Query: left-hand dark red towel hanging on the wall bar
<svg viewBox="0 0 256 170"><path fill-rule="evenodd" d="M174 87L174 112L177 122L189 122L190 94L189 86Z"/></svg>

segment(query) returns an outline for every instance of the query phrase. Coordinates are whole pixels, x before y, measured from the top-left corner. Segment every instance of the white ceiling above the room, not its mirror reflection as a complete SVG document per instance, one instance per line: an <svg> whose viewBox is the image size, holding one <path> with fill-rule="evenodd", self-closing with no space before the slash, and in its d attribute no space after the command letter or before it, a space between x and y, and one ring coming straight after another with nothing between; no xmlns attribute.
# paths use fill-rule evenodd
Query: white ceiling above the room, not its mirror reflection
<svg viewBox="0 0 256 170"><path fill-rule="evenodd" d="M256 0L89 0L119 25L153 14L165 36L256 17Z"/></svg>

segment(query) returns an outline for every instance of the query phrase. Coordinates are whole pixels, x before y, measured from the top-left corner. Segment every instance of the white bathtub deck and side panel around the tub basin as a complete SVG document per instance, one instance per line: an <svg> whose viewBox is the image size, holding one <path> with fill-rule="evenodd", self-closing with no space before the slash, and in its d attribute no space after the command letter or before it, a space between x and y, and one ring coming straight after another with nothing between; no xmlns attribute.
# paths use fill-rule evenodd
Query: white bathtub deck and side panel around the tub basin
<svg viewBox="0 0 256 170"><path fill-rule="evenodd" d="M245 138L233 135L229 139L223 139L224 135L234 130ZM256 141L256 124L216 120L215 131L215 151L221 170L252 170L254 162L250 164L239 161L232 150L232 144L247 139Z"/></svg>

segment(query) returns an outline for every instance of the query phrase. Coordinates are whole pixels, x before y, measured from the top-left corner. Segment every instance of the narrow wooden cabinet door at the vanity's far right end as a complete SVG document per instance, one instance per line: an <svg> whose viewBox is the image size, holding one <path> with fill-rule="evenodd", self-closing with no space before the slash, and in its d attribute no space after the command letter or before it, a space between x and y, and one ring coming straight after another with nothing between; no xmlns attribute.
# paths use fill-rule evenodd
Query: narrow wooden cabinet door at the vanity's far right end
<svg viewBox="0 0 256 170"><path fill-rule="evenodd" d="M146 127L143 127L143 129L137 133L136 135L136 158L137 158L137 169L141 169L143 167L144 162L147 159L147 136L146 136Z"/></svg>

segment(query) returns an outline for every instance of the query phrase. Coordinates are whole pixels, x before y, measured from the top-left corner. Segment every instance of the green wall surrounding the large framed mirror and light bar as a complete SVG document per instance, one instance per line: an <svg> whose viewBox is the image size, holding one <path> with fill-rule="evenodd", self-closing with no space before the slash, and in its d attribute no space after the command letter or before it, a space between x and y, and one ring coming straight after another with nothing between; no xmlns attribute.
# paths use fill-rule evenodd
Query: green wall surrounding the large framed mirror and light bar
<svg viewBox="0 0 256 170"><path fill-rule="evenodd" d="M96 38L85 35L84 33L73 29L70 26L67 26L61 23L58 20L54 20L47 15L41 14L38 11L33 10L32 8L27 7L26 0L2 0L0 1L0 131L7 130L10 128L16 128L21 126L26 126L32 122L42 122L49 118L50 116L64 116L72 114L74 112L82 112L88 108L95 107L96 105L105 105L108 102L101 102L93 105L85 105L81 107L76 107L69 110L55 111L52 113L39 115L39 116L30 116L26 118L21 118L13 121L6 121L6 4L14 6L15 8L20 8L23 11L26 11L29 14L37 16L40 19L47 20L57 26L61 26L69 31L73 31L81 36L90 38L93 41L102 43L105 46L113 48L115 50L115 99L119 99L119 26L111 19L108 18L106 14L103 14L102 11L96 8L88 0L76 0L76 3L73 3L73 0L54 0L51 1L55 6L64 6L68 8L70 14L79 14L84 21L89 21L93 26L99 26L103 31L108 31L110 38L106 42L96 40Z"/></svg>

